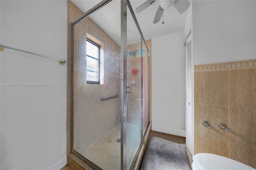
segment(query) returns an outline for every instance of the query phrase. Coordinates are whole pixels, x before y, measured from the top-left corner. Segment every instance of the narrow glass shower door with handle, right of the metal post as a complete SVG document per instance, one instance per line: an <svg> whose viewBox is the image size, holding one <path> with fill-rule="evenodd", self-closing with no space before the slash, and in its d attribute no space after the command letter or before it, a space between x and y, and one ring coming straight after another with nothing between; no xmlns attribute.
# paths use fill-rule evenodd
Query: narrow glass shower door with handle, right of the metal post
<svg viewBox="0 0 256 170"><path fill-rule="evenodd" d="M127 30L126 169L129 170L142 141L142 38L129 8L127 8Z"/></svg>

